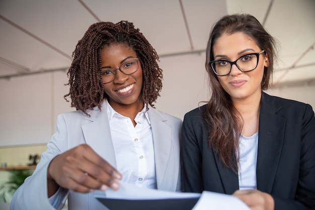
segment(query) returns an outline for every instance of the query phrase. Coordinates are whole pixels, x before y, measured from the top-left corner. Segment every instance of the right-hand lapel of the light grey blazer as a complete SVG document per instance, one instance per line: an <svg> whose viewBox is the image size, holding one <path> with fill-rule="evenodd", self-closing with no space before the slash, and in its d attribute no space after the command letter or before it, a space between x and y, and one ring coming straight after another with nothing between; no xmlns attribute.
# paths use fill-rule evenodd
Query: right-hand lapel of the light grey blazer
<svg viewBox="0 0 315 210"><path fill-rule="evenodd" d="M173 189L174 179L165 177L166 172L170 175L172 174L170 170L176 170L174 163L169 162L172 149L172 128L165 123L166 119L152 107L149 107L148 115L153 135L157 189L175 190L176 186Z"/></svg>

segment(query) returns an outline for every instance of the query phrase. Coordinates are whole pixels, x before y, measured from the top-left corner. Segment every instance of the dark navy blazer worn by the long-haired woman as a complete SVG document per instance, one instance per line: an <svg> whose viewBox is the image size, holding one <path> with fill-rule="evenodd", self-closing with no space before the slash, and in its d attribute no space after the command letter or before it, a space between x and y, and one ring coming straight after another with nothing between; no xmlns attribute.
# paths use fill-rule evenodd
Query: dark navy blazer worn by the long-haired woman
<svg viewBox="0 0 315 210"><path fill-rule="evenodd" d="M209 148L204 111L205 105L184 117L185 191L232 194L239 189L238 174ZM310 105L262 93L256 179L257 189L273 196L276 210L315 209L315 116Z"/></svg>

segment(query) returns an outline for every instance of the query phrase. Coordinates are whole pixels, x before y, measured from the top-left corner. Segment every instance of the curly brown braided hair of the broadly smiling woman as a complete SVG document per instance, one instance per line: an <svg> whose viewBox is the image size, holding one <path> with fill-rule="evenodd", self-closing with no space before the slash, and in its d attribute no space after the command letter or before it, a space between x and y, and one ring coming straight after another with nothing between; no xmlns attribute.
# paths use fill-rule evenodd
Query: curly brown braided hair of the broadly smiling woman
<svg viewBox="0 0 315 210"><path fill-rule="evenodd" d="M100 75L101 49L112 43L123 43L131 47L137 54L142 67L143 83L140 99L152 104L160 96L162 90L162 69L157 64L159 56L133 23L99 22L91 25L83 38L76 44L72 53L72 63L67 72L69 93L64 95L66 101L70 96L71 107L87 114L88 109L98 107L104 98L108 98L103 89Z"/></svg>

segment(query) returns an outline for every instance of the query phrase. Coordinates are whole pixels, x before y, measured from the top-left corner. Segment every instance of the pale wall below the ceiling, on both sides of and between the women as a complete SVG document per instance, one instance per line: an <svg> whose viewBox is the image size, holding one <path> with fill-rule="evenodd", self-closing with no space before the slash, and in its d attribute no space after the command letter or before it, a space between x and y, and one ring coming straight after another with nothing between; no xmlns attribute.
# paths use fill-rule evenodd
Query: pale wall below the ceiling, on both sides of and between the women
<svg viewBox="0 0 315 210"><path fill-rule="evenodd" d="M205 55L163 57L161 97L155 107L183 119L208 99ZM0 80L0 147L46 144L55 131L58 114L74 110L63 99L66 74L45 73ZM309 103L315 107L315 85L283 87L267 93Z"/></svg>

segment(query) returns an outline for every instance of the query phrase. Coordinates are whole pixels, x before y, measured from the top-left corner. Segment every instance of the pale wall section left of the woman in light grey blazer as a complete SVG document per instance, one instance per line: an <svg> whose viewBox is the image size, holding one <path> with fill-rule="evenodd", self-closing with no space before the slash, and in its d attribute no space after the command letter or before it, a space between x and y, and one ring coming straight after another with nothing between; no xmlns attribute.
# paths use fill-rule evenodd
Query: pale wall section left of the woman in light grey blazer
<svg viewBox="0 0 315 210"><path fill-rule="evenodd" d="M57 114L73 110L63 95L63 72L0 80L0 147L46 144Z"/></svg>

